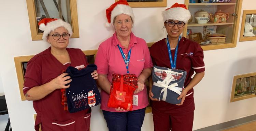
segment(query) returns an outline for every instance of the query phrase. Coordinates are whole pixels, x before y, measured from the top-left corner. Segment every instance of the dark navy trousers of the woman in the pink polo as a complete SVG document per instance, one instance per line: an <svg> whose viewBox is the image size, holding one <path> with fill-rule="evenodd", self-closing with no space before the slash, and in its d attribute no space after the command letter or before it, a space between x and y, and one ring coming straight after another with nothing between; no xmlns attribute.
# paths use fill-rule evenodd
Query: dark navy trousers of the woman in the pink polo
<svg viewBox="0 0 256 131"><path fill-rule="evenodd" d="M109 131L140 131L145 110L146 108L128 112L102 112Z"/></svg>

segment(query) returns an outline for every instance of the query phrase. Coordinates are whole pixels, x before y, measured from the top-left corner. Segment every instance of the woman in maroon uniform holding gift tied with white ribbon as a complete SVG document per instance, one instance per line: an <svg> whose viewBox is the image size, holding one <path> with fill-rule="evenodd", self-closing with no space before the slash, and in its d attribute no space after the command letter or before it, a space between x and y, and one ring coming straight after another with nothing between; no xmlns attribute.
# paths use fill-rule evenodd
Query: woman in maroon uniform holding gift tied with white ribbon
<svg viewBox="0 0 256 131"><path fill-rule="evenodd" d="M168 33L154 43L150 49L153 63L159 67L179 69L187 72L180 104L169 104L153 98L153 81L150 80L149 97L152 100L152 113L155 131L192 131L194 119L193 87L204 76L203 50L196 42L182 36L182 31L191 14L186 5L175 3L162 12L164 27ZM196 72L195 76L191 76ZM168 97L168 96L167 96Z"/></svg>

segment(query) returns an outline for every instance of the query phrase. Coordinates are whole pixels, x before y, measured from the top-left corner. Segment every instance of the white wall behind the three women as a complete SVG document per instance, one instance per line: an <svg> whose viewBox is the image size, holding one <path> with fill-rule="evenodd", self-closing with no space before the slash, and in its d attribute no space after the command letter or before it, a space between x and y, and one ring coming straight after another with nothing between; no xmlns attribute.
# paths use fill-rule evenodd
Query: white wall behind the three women
<svg viewBox="0 0 256 131"><path fill-rule="evenodd" d="M175 1L176 2L176 1ZM184 3L184 0L177 0ZM244 0L242 10L252 10L254 0ZM80 38L70 40L70 48L97 49L99 44L113 34L104 26L105 9L114 0L77 0ZM170 7L174 1L168 0ZM161 11L163 8L133 8L136 36L154 42L166 36L163 33ZM25 0L1 0L0 4L1 64L0 78L14 131L33 131L35 113L32 101L21 101L14 66L15 56L34 55L45 50L49 44L32 41ZM240 21L241 23L241 21ZM238 34L240 33L240 29ZM238 42L236 48L204 51L205 77L195 87L194 129L256 114L255 100L250 98L230 103L232 77L255 72L255 42ZM0 88L0 91L3 89ZM93 108L92 131L107 130L99 106ZM152 113L145 116L142 131L153 131Z"/></svg>

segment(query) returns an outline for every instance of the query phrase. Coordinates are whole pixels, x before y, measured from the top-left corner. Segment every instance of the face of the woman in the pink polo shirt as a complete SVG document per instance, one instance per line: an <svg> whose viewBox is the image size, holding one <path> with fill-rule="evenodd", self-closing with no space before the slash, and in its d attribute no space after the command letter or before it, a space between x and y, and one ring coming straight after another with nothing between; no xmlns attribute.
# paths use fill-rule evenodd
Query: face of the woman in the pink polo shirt
<svg viewBox="0 0 256 131"><path fill-rule="evenodd" d="M116 35L123 39L126 39L131 34L132 20L129 15L121 14L114 19L114 27Z"/></svg>

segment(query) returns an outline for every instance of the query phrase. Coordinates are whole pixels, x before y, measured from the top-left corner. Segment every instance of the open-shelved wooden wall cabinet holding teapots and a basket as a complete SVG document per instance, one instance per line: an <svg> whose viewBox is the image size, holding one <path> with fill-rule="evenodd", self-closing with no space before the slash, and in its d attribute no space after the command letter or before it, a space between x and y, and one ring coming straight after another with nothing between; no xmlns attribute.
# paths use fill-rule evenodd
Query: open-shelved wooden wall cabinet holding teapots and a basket
<svg viewBox="0 0 256 131"><path fill-rule="evenodd" d="M231 0L230 3L189 3L189 0L185 0L185 4L193 16L193 20L190 23L186 23L183 31L184 37L187 37L187 29L191 29L192 33L200 32L203 38L205 38L209 30L213 30L216 33L226 35L225 42L202 45L203 50L236 47L242 0ZM229 15L225 23L214 23L210 20L205 24L198 24L195 22L195 14L200 10L211 14L221 10L221 12L229 13Z"/></svg>

